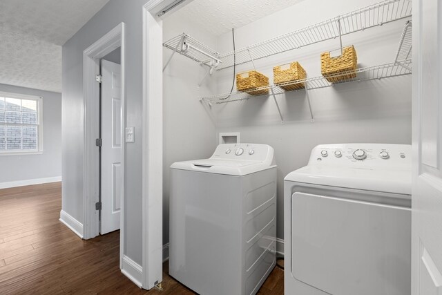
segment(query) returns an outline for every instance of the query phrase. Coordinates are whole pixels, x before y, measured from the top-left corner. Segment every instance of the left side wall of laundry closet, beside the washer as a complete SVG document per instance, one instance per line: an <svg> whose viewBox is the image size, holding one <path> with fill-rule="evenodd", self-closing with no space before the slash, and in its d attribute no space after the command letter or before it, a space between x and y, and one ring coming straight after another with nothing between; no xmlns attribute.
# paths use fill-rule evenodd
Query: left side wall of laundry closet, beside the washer
<svg viewBox="0 0 442 295"><path fill-rule="evenodd" d="M163 39L171 39L182 32L215 48L217 39L183 21L177 15L164 20ZM164 48L164 64L172 51ZM215 150L215 122L201 104L198 97L214 94L215 83L207 77L204 84L198 84L206 75L207 68L195 61L175 54L163 75L163 242L169 242L169 173L173 162L209 158Z"/></svg>

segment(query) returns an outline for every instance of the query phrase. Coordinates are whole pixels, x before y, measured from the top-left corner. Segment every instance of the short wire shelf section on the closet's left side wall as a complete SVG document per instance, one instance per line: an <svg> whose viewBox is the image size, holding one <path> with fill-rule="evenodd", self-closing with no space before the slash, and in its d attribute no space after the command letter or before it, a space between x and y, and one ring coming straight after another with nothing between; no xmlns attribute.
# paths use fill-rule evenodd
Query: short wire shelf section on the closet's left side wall
<svg viewBox="0 0 442 295"><path fill-rule="evenodd" d="M211 59L215 61L220 60L220 53L216 52L209 46L202 44L200 41L192 38L186 33L182 33L181 35L165 41L163 46L180 53L180 55L189 57L198 63L206 63Z"/></svg>

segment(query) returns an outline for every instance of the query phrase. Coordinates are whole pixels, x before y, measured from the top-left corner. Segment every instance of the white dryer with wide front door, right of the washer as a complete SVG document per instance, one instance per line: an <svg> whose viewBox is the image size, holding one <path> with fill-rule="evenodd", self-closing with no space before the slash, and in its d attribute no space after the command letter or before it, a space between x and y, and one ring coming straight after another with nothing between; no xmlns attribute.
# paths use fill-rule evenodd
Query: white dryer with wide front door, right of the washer
<svg viewBox="0 0 442 295"><path fill-rule="evenodd" d="M411 146L325 144L285 178L285 292L410 295Z"/></svg>

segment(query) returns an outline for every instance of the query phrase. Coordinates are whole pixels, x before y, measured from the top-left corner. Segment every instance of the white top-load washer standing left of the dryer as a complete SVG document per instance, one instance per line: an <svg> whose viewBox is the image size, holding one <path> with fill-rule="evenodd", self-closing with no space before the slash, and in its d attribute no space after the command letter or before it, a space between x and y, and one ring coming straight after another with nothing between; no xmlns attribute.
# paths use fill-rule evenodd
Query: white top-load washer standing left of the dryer
<svg viewBox="0 0 442 295"><path fill-rule="evenodd" d="M199 294L256 294L276 264L276 162L220 144L171 166L169 274Z"/></svg>

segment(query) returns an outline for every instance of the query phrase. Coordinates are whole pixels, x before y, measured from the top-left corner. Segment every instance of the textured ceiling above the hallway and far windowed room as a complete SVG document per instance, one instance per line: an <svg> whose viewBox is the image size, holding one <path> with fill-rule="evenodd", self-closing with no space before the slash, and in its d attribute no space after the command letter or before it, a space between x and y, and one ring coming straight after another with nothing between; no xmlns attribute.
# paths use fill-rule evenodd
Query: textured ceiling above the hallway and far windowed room
<svg viewBox="0 0 442 295"><path fill-rule="evenodd" d="M61 92L61 46L108 0L0 0L0 83Z"/></svg>

